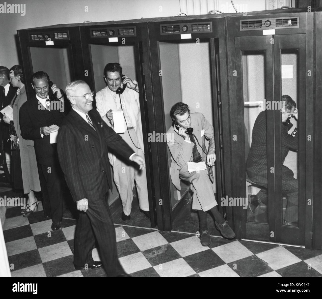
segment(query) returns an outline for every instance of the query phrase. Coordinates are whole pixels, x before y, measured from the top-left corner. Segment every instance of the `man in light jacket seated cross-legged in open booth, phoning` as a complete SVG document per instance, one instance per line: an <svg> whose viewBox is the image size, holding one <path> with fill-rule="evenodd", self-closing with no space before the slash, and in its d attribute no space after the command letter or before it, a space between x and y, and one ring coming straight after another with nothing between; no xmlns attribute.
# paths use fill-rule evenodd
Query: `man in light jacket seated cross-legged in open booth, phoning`
<svg viewBox="0 0 322 299"><path fill-rule="evenodd" d="M167 138L167 145L172 156L170 175L172 183L178 190L181 189L179 179L193 185L192 208L198 210L201 244L209 246L211 242L207 228L207 211L213 214L215 226L221 235L228 239L234 238L235 233L216 207L213 176L210 175L210 170L216 160L213 126L202 113L190 114L188 105L182 102L172 106L170 117L173 125L166 133L167 137L173 136ZM205 147L205 138L209 140L208 151ZM206 164L210 168L207 169Z"/></svg>

